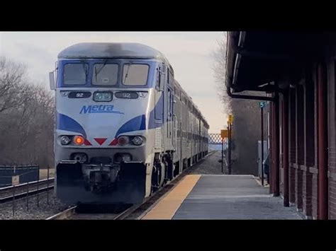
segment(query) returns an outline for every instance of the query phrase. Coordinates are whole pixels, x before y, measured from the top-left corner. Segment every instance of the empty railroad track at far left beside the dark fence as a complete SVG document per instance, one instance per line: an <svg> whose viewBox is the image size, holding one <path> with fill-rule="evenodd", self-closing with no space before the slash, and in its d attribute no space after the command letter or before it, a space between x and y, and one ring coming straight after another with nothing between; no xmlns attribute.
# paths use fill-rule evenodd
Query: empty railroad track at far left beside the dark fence
<svg viewBox="0 0 336 251"><path fill-rule="evenodd" d="M28 182L16 186L3 187L0 188L0 204L6 202L11 202L13 199L22 199L31 195L46 192L47 190L53 189L54 185L50 185L54 178L49 180L36 180L34 182ZM33 188L33 189L32 189Z"/></svg>

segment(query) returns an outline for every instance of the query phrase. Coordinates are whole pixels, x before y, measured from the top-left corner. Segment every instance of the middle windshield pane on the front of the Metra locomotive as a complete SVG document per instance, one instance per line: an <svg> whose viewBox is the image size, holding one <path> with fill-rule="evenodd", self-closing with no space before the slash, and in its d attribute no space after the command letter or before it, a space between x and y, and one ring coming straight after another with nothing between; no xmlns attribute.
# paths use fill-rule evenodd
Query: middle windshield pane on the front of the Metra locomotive
<svg viewBox="0 0 336 251"><path fill-rule="evenodd" d="M118 81L118 64L94 64L92 84L115 86Z"/></svg>

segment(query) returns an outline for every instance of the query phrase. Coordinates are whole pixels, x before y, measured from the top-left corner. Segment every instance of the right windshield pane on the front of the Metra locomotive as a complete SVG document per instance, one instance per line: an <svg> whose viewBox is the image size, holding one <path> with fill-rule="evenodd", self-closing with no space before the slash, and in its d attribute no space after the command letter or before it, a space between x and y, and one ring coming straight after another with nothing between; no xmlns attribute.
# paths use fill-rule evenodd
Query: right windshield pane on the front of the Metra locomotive
<svg viewBox="0 0 336 251"><path fill-rule="evenodd" d="M145 86L147 84L149 69L150 66L147 64L124 64L123 85Z"/></svg>

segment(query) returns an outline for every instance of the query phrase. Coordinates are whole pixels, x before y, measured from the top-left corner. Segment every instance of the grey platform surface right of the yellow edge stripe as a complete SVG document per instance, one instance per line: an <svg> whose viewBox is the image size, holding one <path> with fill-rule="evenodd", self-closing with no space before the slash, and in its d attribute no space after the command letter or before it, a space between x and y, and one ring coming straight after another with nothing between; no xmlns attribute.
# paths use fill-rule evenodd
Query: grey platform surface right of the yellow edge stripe
<svg viewBox="0 0 336 251"><path fill-rule="evenodd" d="M201 175L172 219L302 219L268 191L253 175Z"/></svg>

